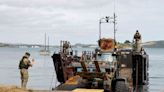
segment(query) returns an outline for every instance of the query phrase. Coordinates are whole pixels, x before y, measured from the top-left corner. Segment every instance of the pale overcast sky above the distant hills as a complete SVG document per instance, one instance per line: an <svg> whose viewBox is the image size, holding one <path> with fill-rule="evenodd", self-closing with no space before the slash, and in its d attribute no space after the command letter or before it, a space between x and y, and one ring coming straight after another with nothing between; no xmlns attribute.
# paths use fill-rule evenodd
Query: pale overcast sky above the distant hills
<svg viewBox="0 0 164 92"><path fill-rule="evenodd" d="M115 3L114 3L115 2ZM0 0L0 42L58 45L97 44L99 19L117 15L116 40L164 40L163 0ZM114 8L115 6L115 8ZM113 24L101 25L102 37L113 37Z"/></svg>

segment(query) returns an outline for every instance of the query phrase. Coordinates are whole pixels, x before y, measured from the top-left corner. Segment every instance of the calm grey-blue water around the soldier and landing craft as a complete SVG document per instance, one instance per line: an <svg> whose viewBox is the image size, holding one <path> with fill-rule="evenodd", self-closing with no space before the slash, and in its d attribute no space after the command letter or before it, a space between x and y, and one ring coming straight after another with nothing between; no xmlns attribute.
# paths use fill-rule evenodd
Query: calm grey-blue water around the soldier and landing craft
<svg viewBox="0 0 164 92"><path fill-rule="evenodd" d="M28 88L51 89L57 83L51 56L40 56L39 48L0 48L0 84L20 86L19 60L26 51L35 59L29 69ZM57 49L52 49L52 54ZM164 92L164 48L146 49L149 54L149 92Z"/></svg>

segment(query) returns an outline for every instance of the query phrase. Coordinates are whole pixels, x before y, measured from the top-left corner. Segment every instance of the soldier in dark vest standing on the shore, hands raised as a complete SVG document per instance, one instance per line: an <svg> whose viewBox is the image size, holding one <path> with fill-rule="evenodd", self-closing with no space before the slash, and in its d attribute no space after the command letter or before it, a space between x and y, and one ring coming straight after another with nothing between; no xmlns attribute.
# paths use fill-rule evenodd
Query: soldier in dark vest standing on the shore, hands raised
<svg viewBox="0 0 164 92"><path fill-rule="evenodd" d="M32 65L34 64L34 59L32 59L32 62L30 62L29 57L30 57L30 53L26 52L19 63L19 69L21 75L21 88L24 89L26 89L26 85L29 78L28 68L32 67Z"/></svg>

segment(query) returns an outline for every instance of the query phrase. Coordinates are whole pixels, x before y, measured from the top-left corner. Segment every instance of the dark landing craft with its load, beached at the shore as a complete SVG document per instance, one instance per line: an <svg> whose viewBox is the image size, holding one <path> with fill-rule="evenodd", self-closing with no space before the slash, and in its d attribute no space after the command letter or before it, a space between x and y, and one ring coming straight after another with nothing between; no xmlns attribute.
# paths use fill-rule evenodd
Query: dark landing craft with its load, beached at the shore
<svg viewBox="0 0 164 92"><path fill-rule="evenodd" d="M81 56L77 56L68 41L61 41L60 52L52 56L60 82L54 90L143 92L142 87L148 84L149 61L140 43L138 31L134 35L132 49L116 48L115 36L112 39L101 38L100 35L98 49L94 52L84 51Z"/></svg>

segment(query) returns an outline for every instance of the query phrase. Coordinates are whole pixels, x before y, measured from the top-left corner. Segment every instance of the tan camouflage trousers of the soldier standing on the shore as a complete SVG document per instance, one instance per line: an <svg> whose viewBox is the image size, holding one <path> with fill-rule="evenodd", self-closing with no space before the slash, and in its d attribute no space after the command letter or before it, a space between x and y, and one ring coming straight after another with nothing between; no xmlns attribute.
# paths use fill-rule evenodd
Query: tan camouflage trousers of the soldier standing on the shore
<svg viewBox="0 0 164 92"><path fill-rule="evenodd" d="M20 75L21 75L21 88L26 89L26 85L28 82L28 69L20 69Z"/></svg>

